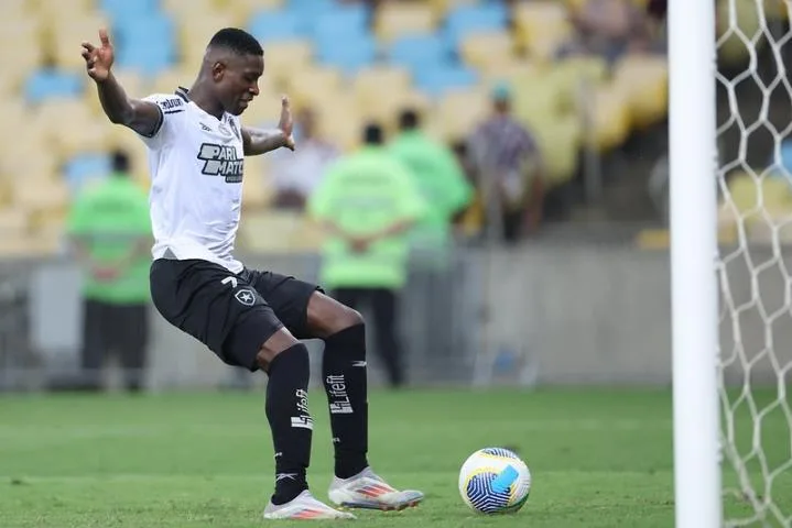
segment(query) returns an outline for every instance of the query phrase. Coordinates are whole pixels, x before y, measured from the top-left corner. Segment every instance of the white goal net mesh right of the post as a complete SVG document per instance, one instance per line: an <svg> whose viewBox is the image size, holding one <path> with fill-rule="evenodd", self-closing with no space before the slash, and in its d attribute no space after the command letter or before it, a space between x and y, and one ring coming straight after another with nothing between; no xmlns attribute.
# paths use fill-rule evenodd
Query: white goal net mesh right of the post
<svg viewBox="0 0 792 528"><path fill-rule="evenodd" d="M718 2L720 404L727 526L792 526L790 6Z"/></svg>

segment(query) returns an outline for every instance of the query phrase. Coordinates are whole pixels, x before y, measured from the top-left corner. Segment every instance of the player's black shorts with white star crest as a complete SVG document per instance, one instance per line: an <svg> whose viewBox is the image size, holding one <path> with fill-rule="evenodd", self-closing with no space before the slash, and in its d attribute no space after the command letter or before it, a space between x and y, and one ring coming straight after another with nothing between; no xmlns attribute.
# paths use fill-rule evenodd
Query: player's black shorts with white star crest
<svg viewBox="0 0 792 528"><path fill-rule="evenodd" d="M319 290L314 284L247 268L234 274L202 260L159 258L150 278L162 317L226 364L258 370L256 354L282 327L297 339L312 337L308 300Z"/></svg>

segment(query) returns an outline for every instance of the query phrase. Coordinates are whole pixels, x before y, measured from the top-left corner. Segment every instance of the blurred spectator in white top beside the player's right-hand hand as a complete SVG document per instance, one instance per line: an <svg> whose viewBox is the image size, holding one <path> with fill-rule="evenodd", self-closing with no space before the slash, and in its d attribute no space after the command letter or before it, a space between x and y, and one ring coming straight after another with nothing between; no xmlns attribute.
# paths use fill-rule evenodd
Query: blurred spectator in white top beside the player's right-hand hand
<svg viewBox="0 0 792 528"><path fill-rule="evenodd" d="M301 110L295 121L297 148L294 152L278 152L271 156L271 162L275 186L274 206L302 210L339 152L318 136L314 110Z"/></svg>

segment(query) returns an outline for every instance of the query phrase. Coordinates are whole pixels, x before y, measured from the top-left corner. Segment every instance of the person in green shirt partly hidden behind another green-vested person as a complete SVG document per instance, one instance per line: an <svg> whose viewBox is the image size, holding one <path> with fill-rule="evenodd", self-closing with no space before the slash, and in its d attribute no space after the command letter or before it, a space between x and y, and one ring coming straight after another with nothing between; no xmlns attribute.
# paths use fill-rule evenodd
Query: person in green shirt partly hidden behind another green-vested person
<svg viewBox="0 0 792 528"><path fill-rule="evenodd" d="M390 152L410 173L428 207L411 233L412 246L443 258L452 242L452 223L473 197L473 189L454 153L426 135L414 110L399 117L399 135Z"/></svg>

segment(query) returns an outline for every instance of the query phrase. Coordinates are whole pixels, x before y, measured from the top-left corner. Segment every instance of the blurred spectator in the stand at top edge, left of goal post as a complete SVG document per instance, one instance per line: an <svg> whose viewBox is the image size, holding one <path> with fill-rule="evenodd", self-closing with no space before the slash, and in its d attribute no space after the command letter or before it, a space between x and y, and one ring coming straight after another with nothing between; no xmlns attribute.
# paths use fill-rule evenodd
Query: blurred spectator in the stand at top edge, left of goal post
<svg viewBox="0 0 792 528"><path fill-rule="evenodd" d="M630 0L586 0L571 19L577 31L562 56L599 55L612 64L626 53L651 47L648 13Z"/></svg>

